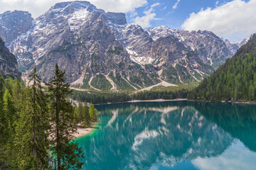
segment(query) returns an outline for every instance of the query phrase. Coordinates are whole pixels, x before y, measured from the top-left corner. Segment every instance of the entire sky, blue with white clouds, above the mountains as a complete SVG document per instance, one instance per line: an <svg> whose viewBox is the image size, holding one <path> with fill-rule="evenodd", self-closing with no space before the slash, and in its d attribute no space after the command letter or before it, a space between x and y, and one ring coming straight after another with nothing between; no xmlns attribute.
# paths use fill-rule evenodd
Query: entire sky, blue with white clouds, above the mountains
<svg viewBox="0 0 256 170"><path fill-rule="evenodd" d="M36 18L65 0L0 0L0 13L28 11ZM74 0L67 0L74 1ZM105 11L126 13L128 23L142 28L168 26L210 30L230 42L256 33L256 0L87 0Z"/></svg>

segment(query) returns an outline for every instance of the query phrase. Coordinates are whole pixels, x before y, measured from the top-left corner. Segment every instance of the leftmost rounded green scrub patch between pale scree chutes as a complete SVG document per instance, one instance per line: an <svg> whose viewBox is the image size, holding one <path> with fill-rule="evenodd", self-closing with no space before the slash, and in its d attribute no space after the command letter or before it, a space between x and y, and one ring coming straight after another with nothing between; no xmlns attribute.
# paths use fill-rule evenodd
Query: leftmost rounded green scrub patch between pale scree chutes
<svg viewBox="0 0 256 170"><path fill-rule="evenodd" d="M102 74L96 75L96 77L92 79L91 85L102 91L110 91L112 88L110 81L108 81Z"/></svg>

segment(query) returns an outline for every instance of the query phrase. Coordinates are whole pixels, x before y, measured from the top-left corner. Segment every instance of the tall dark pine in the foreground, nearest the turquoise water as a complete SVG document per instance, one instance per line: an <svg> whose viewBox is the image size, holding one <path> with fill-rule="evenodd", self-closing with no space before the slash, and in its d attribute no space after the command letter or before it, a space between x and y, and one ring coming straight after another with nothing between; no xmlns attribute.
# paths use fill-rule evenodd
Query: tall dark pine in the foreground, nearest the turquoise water
<svg viewBox="0 0 256 170"><path fill-rule="evenodd" d="M83 156L77 143L70 142L73 139L73 133L77 127L72 121L73 106L68 101L68 94L71 93L70 84L65 84L65 71L58 68L55 64L55 75L50 79L48 86L48 95L50 97L50 111L52 127L50 130L53 159L57 159L58 170L61 169L80 169Z"/></svg>

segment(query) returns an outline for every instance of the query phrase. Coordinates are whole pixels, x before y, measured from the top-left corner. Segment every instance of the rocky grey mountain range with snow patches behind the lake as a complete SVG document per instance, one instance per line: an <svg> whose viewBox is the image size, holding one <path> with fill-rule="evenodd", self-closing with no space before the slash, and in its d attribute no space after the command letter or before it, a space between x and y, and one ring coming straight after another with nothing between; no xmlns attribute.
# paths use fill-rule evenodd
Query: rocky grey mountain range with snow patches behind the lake
<svg viewBox="0 0 256 170"><path fill-rule="evenodd" d="M6 11L0 37L24 75L36 65L48 81L57 63L72 86L101 91L201 81L247 42L230 43L208 30L144 30L128 24L124 13L106 13L87 1L55 4L35 19Z"/></svg>

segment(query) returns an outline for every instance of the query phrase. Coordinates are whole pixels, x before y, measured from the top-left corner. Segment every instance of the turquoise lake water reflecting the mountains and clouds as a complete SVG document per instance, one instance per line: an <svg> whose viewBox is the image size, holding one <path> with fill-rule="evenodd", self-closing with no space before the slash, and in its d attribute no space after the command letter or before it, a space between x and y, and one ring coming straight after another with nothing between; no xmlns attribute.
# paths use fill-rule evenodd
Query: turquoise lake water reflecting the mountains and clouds
<svg viewBox="0 0 256 170"><path fill-rule="evenodd" d="M189 101L96 106L76 142L82 169L256 169L256 105Z"/></svg>

